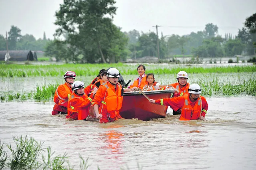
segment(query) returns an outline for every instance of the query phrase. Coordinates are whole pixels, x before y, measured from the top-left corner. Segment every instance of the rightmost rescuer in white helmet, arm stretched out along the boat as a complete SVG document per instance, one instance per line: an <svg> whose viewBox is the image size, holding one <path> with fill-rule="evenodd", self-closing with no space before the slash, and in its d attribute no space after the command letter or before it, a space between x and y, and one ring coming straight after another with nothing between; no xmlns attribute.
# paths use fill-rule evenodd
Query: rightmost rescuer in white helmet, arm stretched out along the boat
<svg viewBox="0 0 256 170"><path fill-rule="evenodd" d="M198 84L191 84L188 89L189 94L179 97L164 98L149 102L170 106L173 110L180 110L179 120L204 120L208 110L208 103L204 96L200 96L202 90Z"/></svg>

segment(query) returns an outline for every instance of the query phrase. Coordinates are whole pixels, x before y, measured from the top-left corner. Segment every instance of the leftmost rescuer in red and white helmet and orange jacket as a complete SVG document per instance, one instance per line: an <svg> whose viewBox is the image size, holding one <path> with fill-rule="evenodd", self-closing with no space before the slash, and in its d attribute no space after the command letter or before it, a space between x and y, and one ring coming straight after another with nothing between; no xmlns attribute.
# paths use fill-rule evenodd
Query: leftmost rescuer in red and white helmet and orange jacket
<svg viewBox="0 0 256 170"><path fill-rule="evenodd" d="M68 110L68 100L72 93L71 84L74 82L76 73L72 71L67 71L64 74L65 84L61 84L57 87L53 101L55 103L52 115L55 114L67 114Z"/></svg>

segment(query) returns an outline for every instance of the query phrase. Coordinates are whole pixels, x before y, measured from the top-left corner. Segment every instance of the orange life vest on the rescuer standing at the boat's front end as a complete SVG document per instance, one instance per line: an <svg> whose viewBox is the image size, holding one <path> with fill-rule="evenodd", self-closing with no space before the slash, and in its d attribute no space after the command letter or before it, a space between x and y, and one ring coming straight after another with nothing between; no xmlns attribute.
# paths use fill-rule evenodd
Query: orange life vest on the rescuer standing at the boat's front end
<svg viewBox="0 0 256 170"><path fill-rule="evenodd" d="M101 84L102 86L105 86L106 88L106 96L105 96L105 100L103 98L103 100L101 101L101 106L99 107L99 113L101 113L101 109L103 107L104 110L107 110L106 114L109 114L109 117L111 119L115 119L118 120L118 118L121 118L120 114L119 114L119 110L122 107L122 103L123 103L123 96L121 94L122 91L122 86L117 83L117 89L116 92L114 92L110 87L109 87L109 82L105 82L103 84ZM102 113L104 114L104 113ZM102 122L100 120L100 122Z"/></svg>

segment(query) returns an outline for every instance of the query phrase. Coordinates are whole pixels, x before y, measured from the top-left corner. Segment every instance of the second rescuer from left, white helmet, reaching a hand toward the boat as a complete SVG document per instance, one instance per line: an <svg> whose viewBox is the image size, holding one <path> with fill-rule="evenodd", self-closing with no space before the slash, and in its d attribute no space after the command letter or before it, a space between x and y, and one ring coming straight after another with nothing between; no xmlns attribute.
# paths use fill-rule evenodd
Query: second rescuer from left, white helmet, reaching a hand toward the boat
<svg viewBox="0 0 256 170"><path fill-rule="evenodd" d="M89 115L92 98L97 92L97 88L93 90L91 95L88 97L89 92L86 93L84 82L75 81L72 86L74 92L69 96L68 115L66 118L72 118L74 120L86 120L87 116Z"/></svg>

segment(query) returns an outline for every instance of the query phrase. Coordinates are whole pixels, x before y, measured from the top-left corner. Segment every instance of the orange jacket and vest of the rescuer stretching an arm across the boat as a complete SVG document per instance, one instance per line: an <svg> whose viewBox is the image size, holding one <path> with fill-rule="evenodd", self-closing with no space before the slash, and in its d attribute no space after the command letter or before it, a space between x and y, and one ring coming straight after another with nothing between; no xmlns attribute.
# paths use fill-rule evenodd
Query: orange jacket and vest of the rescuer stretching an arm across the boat
<svg viewBox="0 0 256 170"><path fill-rule="evenodd" d="M205 116L208 110L208 103L204 96L200 96L195 102L189 99L189 95L179 96L175 98L164 98L155 100L155 103L170 106L174 111L181 110L179 120L197 120L201 116ZM201 109L202 108L202 109Z"/></svg>

